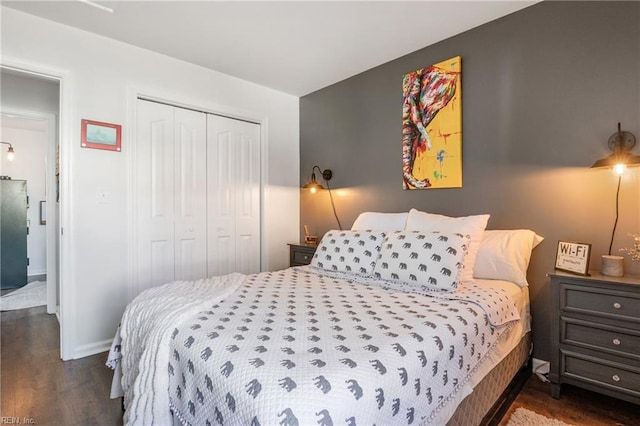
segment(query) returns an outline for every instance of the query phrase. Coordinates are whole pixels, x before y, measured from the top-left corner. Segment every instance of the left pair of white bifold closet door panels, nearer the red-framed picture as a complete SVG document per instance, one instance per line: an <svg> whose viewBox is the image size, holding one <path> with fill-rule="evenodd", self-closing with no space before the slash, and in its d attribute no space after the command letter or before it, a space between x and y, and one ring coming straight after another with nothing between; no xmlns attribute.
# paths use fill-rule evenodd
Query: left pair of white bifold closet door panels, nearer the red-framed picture
<svg viewBox="0 0 640 426"><path fill-rule="evenodd" d="M138 290L207 276L206 114L138 101Z"/></svg>

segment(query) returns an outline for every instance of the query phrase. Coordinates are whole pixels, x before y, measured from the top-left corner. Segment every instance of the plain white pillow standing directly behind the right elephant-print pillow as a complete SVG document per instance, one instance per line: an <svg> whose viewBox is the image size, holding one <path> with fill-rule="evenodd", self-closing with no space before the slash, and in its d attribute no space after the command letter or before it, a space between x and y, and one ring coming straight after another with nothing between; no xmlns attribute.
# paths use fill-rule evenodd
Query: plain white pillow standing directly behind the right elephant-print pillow
<svg viewBox="0 0 640 426"><path fill-rule="evenodd" d="M480 247L480 240L482 239L484 229L487 227L489 216L488 214L481 214L465 217L449 217L411 209L407 217L407 226L405 229L443 233L457 232L468 235L470 240L469 250L464 261L461 277L462 281L468 282L473 281L473 265L476 263L478 247Z"/></svg>

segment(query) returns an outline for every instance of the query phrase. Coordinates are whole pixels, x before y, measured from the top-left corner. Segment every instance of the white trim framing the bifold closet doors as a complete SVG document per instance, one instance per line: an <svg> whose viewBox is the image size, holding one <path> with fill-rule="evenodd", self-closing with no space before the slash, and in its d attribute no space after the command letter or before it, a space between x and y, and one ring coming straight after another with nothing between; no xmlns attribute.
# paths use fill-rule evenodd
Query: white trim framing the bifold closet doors
<svg viewBox="0 0 640 426"><path fill-rule="evenodd" d="M127 97L127 140L130 146L129 155L129 180L127 182L129 191L128 205L130 206L128 221L127 221L127 234L128 234L128 259L129 262L129 291L128 301L131 301L138 294L138 238L136 231L136 211L137 211L137 199L138 189L136 182L136 164L137 164L137 151L136 151L136 131L137 131L137 101L139 98L160 102L167 105L171 105L178 108L192 109L201 111L207 114L221 115L228 118L234 118L237 120L250 121L260 125L260 270L264 271L267 265L267 253L266 253L266 241L265 241L265 202L268 197L268 123L267 117L263 117L258 113L234 108L231 106L220 105L212 103L204 99L195 99L189 96L185 96L183 93L177 93L173 91L167 91L158 87L141 87L131 86L129 87L129 95Z"/></svg>

